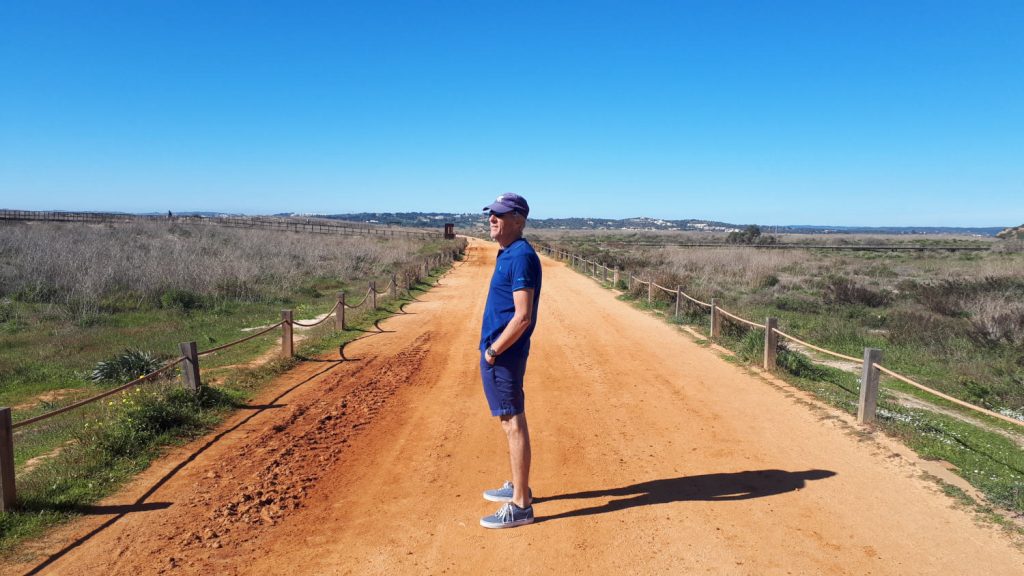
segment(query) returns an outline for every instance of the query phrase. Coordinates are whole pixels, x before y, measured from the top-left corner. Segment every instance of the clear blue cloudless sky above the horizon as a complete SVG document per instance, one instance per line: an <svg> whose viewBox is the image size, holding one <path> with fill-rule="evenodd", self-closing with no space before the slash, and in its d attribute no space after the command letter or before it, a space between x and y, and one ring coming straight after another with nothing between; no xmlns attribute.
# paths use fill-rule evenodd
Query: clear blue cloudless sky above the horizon
<svg viewBox="0 0 1024 576"><path fill-rule="evenodd" d="M1024 2L0 3L0 208L1024 222Z"/></svg>

